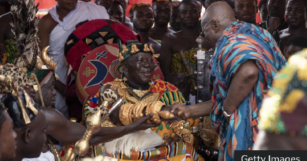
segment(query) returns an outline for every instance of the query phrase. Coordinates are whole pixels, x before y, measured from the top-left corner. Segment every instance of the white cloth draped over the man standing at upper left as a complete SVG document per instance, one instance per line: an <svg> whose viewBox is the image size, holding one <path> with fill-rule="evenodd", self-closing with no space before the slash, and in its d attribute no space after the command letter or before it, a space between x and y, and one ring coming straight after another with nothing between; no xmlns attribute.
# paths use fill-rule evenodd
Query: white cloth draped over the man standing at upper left
<svg viewBox="0 0 307 161"><path fill-rule="evenodd" d="M82 1L78 1L76 8L65 16L63 21L59 19L59 15L56 12L56 5L49 10L49 13L58 22L58 25L50 33L48 55L53 57L53 60L57 63L55 73L59 77L58 80L66 84L68 70L65 64L64 44L68 36L76 29L76 25L79 22L93 19L109 19L109 15L103 6ZM55 107L66 118L69 118L65 97L58 91L55 97Z"/></svg>

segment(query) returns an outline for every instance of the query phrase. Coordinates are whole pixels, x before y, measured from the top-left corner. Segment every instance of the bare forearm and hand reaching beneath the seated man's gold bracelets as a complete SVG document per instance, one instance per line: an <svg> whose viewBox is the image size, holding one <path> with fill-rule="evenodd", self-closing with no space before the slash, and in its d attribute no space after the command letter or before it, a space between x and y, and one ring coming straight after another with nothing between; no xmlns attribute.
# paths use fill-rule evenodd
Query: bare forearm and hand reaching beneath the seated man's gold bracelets
<svg viewBox="0 0 307 161"><path fill-rule="evenodd" d="M150 113L145 117L138 119L130 125L118 126L118 127L101 127L100 129L94 131L93 137L90 140L91 145L110 142L114 139L122 137L126 134L146 130L151 127L157 127L160 124L149 124L146 123L147 120L153 117L153 114Z"/></svg>

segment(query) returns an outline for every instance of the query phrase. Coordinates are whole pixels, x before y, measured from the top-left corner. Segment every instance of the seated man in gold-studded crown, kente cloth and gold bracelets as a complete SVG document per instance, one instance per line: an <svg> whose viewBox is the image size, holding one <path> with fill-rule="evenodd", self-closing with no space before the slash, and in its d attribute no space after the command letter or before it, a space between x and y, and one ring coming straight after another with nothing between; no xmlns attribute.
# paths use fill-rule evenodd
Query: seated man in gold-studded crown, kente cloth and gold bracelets
<svg viewBox="0 0 307 161"><path fill-rule="evenodd" d="M165 107L185 103L183 94L168 82L151 82L155 70L153 57L157 56L151 45L138 43L137 40L127 41L126 44L119 41L118 44L118 58L123 68L121 79L105 83L96 96L86 102L83 121L86 122L99 110L95 108L108 100L106 107L112 113L102 122L102 127L126 126L151 113L153 117L147 123L156 124L157 127L127 133L104 144L92 143L99 145L91 146L91 157L105 155L120 160L203 160L193 147L193 133L197 131L199 119L177 121L174 118L176 115L181 116L182 111L173 114ZM118 104L115 101L117 98L123 101L114 109L113 105ZM173 123L168 125L164 121Z"/></svg>

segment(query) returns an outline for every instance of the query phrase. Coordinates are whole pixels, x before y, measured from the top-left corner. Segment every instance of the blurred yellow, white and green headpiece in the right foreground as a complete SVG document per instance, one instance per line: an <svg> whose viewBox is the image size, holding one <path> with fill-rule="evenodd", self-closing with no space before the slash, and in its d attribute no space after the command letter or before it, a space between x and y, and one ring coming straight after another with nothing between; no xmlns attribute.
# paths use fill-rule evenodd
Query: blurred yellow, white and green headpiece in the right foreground
<svg viewBox="0 0 307 161"><path fill-rule="evenodd" d="M307 49L290 57L280 70L260 110L259 129L307 136Z"/></svg>

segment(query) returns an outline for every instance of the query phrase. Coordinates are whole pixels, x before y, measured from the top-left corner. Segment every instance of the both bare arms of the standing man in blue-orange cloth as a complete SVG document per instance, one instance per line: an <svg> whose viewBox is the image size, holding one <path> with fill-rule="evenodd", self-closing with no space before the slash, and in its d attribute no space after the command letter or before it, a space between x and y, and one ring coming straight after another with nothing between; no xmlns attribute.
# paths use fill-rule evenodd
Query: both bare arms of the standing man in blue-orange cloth
<svg viewBox="0 0 307 161"><path fill-rule="evenodd" d="M224 100L224 110L231 114L240 105L240 103L250 94L256 81L258 80L258 67L253 61L243 63L236 74L233 76L228 88L227 97ZM164 109L170 108L170 112L177 113L176 110L184 112L181 117L183 120L195 117L210 116L212 101L185 106L185 104L174 104ZM229 118L225 117L227 121Z"/></svg>

